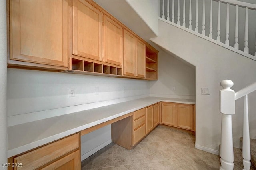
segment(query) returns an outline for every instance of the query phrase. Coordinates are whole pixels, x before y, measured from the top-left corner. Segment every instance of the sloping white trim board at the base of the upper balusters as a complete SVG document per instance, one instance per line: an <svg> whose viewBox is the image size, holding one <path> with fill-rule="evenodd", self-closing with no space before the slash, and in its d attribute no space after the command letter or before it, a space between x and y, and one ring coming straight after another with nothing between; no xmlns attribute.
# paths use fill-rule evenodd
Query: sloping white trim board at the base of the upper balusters
<svg viewBox="0 0 256 170"><path fill-rule="evenodd" d="M208 36L204 36L204 35L202 35L202 34L200 34L200 33L197 33L197 32L195 32L195 31L193 31L193 30L189 30L188 28L184 28L183 26L180 26L180 25L178 25L178 24L176 24L176 23L174 23L174 22L168 21L168 20L163 19L163 18L161 18L161 17L158 17L158 20L161 20L161 21L164 21L164 22L166 22L166 23L168 23L168 24L171 24L171 25L173 25L173 26L176 26L176 27L178 27L178 28L180 28L180 29L182 29L182 30L184 30L184 31L186 31L186 32L189 32L189 33L191 33L191 34L194 34L194 35L196 35L196 36L199 36L200 38L204 38L205 40L208 40L208 41L210 41L210 42L213 42L213 43L215 43L215 44L217 44L217 45L219 45L219 46L222 46L222 47L224 47L224 48L227 48L228 50L234 51L234 52L236 52L236 53L238 53L238 54L241 54L241 55L243 55L243 56L245 56L245 57L247 57L247 58L250 58L250 59L256 61L256 56L253 56L253 55L251 55L251 54L248 54L248 53L246 53L246 52L243 52L243 51L241 51L241 50L238 50L238 49L236 49L236 48L234 48L234 47L232 47L232 46L228 46L228 45L226 45L226 44L224 44L224 43L222 43L222 42L218 42L218 41L216 41L215 39L209 38Z"/></svg>

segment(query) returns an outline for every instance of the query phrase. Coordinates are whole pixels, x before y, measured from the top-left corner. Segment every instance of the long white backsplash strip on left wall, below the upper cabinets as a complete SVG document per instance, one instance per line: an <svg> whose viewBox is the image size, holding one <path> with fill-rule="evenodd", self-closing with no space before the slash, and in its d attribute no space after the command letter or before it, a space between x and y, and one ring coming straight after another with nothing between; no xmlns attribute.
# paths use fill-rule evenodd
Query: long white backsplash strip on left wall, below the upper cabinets
<svg viewBox="0 0 256 170"><path fill-rule="evenodd" d="M89 109L93 109L93 108L108 106L111 104L126 102L129 100L136 100L136 99L144 98L144 97L148 97L148 96L149 96L149 94L145 94L145 95L140 95L140 96L119 98L119 99L115 99L115 100L107 100L107 101L103 101L103 102L81 104L81 105L69 106L69 107L64 107L64 108L57 108L57 109L51 109L51 110L43 110L43 111L39 111L39 112L32 112L32 113L8 116L7 117L7 125L9 127L9 126L14 126L14 125L18 125L18 124L24 124L24 123L33 122L36 120L42 120L42 119L52 118L52 117L60 116L60 115L64 115L64 114L70 114L70 113L74 113L74 112L80 112L80 111L89 110Z"/></svg>

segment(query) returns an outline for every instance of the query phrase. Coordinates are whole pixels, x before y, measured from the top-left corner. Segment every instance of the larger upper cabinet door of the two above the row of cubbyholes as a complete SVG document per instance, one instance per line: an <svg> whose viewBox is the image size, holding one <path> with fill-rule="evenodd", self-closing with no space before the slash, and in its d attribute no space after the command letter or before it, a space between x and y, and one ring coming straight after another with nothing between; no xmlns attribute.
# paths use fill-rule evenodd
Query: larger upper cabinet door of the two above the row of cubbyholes
<svg viewBox="0 0 256 170"><path fill-rule="evenodd" d="M85 0L73 1L73 54L102 60L103 14Z"/></svg>

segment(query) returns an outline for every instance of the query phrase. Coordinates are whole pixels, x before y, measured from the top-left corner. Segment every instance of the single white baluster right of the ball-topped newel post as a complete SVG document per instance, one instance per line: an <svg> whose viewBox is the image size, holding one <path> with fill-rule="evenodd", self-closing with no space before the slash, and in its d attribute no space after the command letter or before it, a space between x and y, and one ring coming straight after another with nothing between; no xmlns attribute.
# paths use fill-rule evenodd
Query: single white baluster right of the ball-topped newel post
<svg viewBox="0 0 256 170"><path fill-rule="evenodd" d="M248 116L248 96L244 96L244 127L243 127L243 170L250 170L251 152L250 152L250 134L249 134L249 116Z"/></svg>

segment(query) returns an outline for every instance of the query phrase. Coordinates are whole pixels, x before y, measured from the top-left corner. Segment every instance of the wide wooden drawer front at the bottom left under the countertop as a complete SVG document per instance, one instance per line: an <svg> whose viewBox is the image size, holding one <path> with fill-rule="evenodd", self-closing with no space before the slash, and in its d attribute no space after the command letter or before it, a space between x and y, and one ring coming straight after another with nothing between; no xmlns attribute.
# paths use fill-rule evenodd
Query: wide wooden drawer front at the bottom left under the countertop
<svg viewBox="0 0 256 170"><path fill-rule="evenodd" d="M32 170L79 148L79 134L66 137L36 150L14 158L14 163L22 163L17 170Z"/></svg>

